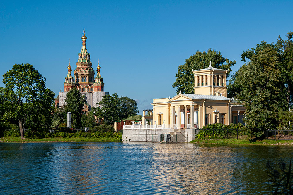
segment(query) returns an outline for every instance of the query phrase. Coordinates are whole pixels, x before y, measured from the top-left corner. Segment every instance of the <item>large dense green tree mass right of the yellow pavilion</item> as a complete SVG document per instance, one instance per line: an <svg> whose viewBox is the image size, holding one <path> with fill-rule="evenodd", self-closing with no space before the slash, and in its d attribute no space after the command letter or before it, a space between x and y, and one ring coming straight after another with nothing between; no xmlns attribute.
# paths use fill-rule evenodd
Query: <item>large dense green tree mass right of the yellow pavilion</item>
<svg viewBox="0 0 293 195"><path fill-rule="evenodd" d="M246 62L232 76L229 96L234 96L246 107L244 122L256 137L265 130L275 129L278 113L292 107L292 32L288 40L279 37L276 44L262 41L256 48L243 52Z"/></svg>

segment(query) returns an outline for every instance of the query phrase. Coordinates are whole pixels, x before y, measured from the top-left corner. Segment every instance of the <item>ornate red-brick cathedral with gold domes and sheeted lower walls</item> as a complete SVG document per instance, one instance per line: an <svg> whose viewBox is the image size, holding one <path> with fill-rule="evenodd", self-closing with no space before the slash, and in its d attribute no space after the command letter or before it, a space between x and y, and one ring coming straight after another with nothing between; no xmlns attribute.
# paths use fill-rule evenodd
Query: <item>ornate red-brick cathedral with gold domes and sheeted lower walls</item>
<svg viewBox="0 0 293 195"><path fill-rule="evenodd" d="M74 78L71 75L70 61L67 66L68 73L65 77L64 92L60 91L55 99L55 105L58 107L64 106L66 94L76 87L81 94L85 96L86 103L83 107L83 112L88 112L91 107L98 106L104 95L108 95L109 92L104 92L103 78L100 73L100 62L97 66L97 75L95 77L95 71L92 68L90 53L86 49L86 34L85 30L81 37L82 46L81 51L78 54L78 61L76 62L76 68L74 70Z"/></svg>

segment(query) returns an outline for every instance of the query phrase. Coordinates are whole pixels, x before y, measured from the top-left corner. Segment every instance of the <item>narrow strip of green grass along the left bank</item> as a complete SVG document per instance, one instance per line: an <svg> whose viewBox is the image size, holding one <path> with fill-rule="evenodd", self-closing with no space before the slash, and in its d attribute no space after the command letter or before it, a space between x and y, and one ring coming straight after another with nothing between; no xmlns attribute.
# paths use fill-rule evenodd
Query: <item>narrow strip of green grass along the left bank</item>
<svg viewBox="0 0 293 195"><path fill-rule="evenodd" d="M62 138L62 137L55 137L55 138L25 138L23 140L20 137L2 137L0 142L79 142L79 141L92 141L92 142L103 142L103 141L120 141L119 139L115 138Z"/></svg>

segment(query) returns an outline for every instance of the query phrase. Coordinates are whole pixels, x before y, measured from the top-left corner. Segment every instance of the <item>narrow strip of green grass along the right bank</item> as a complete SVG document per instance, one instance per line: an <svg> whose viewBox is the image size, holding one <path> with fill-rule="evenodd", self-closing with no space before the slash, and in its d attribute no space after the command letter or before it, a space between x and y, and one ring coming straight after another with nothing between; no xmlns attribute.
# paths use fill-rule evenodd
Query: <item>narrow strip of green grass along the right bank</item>
<svg viewBox="0 0 293 195"><path fill-rule="evenodd" d="M245 144L245 145L293 145L293 140L257 140L246 139L194 139L190 143L196 144Z"/></svg>

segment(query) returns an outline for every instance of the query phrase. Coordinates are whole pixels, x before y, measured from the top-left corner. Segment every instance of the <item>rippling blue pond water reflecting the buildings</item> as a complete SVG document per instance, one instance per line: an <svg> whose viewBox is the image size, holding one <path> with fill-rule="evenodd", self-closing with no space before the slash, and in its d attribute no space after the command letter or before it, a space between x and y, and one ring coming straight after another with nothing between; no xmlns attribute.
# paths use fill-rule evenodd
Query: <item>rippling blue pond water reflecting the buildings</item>
<svg viewBox="0 0 293 195"><path fill-rule="evenodd" d="M1 143L0 194L268 194L292 146Z"/></svg>

